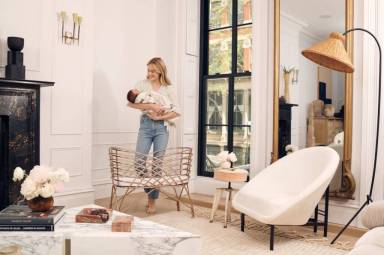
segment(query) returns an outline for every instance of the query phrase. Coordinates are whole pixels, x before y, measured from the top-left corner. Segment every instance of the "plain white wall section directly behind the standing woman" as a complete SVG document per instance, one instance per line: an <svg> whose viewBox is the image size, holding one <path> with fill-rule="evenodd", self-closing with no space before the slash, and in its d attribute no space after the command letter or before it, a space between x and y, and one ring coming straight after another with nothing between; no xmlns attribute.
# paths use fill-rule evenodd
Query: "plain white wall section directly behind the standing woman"
<svg viewBox="0 0 384 255"><path fill-rule="evenodd" d="M175 0L101 0L94 15L92 182L100 198L110 194L108 148L136 144L140 112L127 107L126 94L145 79L148 60L162 57L176 91L180 85Z"/></svg>

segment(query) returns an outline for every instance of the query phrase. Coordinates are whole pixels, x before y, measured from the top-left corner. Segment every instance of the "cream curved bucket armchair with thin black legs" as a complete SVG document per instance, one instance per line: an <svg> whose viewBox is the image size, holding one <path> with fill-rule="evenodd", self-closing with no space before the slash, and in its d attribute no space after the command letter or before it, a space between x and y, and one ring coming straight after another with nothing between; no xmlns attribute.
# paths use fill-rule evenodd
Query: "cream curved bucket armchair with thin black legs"
<svg viewBox="0 0 384 255"><path fill-rule="evenodd" d="M262 223L307 223L335 174L339 156L328 147L311 147L274 162L233 198L233 207ZM243 217L242 217L243 221Z"/></svg>

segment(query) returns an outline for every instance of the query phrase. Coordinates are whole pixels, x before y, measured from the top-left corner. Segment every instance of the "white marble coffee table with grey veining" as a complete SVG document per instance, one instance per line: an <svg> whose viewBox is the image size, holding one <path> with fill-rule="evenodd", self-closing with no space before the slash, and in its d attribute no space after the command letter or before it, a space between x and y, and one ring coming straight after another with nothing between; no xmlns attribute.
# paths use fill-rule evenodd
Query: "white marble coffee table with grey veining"
<svg viewBox="0 0 384 255"><path fill-rule="evenodd" d="M19 245L22 255L193 255L201 252L199 236L137 217L132 232L111 232L111 220L104 224L75 223L75 215L84 207L98 206L67 209L54 232L0 232L0 249ZM112 219L117 215L124 214L113 211Z"/></svg>

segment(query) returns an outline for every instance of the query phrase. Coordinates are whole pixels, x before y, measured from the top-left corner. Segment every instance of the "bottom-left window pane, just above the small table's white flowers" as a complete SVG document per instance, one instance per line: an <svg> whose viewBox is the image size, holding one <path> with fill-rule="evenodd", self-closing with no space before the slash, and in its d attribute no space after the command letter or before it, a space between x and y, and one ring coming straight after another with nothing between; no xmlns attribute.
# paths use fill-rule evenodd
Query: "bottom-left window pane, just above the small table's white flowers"
<svg viewBox="0 0 384 255"><path fill-rule="evenodd" d="M227 150L228 128L220 127L212 130L207 127L206 130L206 171L213 172L218 167L215 157L220 151Z"/></svg>

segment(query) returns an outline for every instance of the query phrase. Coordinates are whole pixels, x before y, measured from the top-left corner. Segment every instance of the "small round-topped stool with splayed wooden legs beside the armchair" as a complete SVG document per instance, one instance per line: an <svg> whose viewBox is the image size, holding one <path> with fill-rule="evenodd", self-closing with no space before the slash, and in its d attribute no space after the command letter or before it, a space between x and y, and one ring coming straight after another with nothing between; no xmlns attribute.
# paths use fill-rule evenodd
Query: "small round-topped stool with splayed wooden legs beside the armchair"
<svg viewBox="0 0 384 255"><path fill-rule="evenodd" d="M224 191L227 192L225 197L225 211L224 211L224 228L227 227L228 221L231 221L231 208L232 208L232 192L238 191L231 187L232 182L245 182L247 180L248 171L244 169L217 169L214 172L213 178L218 181L228 182L227 188L217 188L215 197L213 199L211 217L209 222L213 222L215 212L219 207L220 198Z"/></svg>

